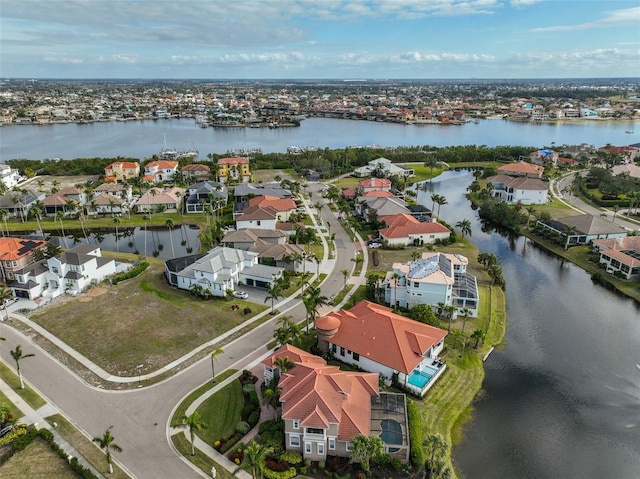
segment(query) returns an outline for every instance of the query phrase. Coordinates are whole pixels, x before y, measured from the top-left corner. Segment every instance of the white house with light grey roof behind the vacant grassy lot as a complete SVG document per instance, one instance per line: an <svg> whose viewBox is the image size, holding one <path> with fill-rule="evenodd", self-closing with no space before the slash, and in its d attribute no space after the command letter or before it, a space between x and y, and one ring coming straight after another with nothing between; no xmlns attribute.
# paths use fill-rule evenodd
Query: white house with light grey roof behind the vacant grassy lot
<svg viewBox="0 0 640 479"><path fill-rule="evenodd" d="M205 255L165 262L165 276L172 286L189 290L198 285L213 296L224 297L238 283L269 288L282 277L282 268L258 263L258 253L218 246Z"/></svg>

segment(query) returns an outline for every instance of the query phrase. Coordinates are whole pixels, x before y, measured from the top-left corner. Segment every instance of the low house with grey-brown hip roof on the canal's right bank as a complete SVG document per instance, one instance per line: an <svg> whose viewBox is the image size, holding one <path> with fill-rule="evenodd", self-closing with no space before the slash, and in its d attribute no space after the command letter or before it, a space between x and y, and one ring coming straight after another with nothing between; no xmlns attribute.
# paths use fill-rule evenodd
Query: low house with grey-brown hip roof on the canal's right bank
<svg viewBox="0 0 640 479"><path fill-rule="evenodd" d="M589 244L597 239L624 238L627 230L600 216L575 215L557 220L538 220L536 227L563 238L565 245Z"/></svg>

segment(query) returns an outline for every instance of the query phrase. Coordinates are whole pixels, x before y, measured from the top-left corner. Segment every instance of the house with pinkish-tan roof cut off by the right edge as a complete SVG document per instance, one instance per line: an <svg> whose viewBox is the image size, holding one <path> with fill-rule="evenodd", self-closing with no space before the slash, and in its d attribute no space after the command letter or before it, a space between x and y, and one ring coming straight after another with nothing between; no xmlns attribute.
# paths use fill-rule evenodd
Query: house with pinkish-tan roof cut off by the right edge
<svg viewBox="0 0 640 479"><path fill-rule="evenodd" d="M592 242L607 273L621 273L625 279L640 278L640 236L598 239Z"/></svg>

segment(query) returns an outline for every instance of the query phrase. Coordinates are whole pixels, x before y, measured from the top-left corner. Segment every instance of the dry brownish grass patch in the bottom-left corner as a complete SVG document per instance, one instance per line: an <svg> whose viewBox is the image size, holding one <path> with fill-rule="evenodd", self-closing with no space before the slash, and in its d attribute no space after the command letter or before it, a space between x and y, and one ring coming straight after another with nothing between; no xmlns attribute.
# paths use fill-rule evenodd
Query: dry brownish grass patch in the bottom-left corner
<svg viewBox="0 0 640 479"><path fill-rule="evenodd" d="M67 462L41 438L36 438L26 449L16 453L0 466L3 479L77 479Z"/></svg>

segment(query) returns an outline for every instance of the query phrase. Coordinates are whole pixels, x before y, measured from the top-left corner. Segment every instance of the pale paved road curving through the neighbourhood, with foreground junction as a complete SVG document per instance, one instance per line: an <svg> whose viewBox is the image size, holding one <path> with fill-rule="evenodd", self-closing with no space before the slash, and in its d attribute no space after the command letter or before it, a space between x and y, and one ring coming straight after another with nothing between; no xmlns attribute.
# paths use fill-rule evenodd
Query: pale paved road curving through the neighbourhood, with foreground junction
<svg viewBox="0 0 640 479"><path fill-rule="evenodd" d="M314 204L317 201L325 203L324 199L320 199L320 188L315 184L308 188L313 192ZM321 217L323 221L330 222L337 245L335 265L322 285L323 294L330 296L343 288L344 276L341 271L353 268L351 259L355 255L355 248L335 213L323 207ZM321 313L326 310L321 310ZM287 314L302 320L305 312L301 302L296 301ZM272 339L273 329L272 320L226 345L225 353L217 357L216 372L230 367L243 368L252 359L265 353L265 344ZM34 358L21 362L25 378L82 431L93 437L102 435L107 427L113 426L116 442L123 448L123 452L115 453L114 458L133 477L161 479L204 476L172 449L167 424L172 410L182 398L211 377L208 358L154 386L133 391L103 391L82 382L12 328L0 325L0 336L7 339L0 343L0 356L7 364L13 365L9 351L17 344L22 345L25 354L36 353ZM209 339L203 338L203 341Z"/></svg>

